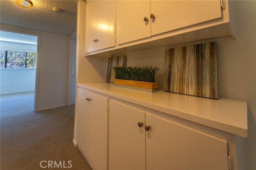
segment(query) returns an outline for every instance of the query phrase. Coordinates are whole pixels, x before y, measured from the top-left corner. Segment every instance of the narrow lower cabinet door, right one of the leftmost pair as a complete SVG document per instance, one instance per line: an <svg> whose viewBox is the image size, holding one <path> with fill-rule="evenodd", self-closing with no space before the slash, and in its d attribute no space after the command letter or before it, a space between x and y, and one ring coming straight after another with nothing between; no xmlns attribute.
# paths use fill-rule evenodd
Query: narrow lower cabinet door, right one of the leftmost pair
<svg viewBox="0 0 256 170"><path fill-rule="evenodd" d="M95 170L108 169L108 99L89 93L88 159Z"/></svg>

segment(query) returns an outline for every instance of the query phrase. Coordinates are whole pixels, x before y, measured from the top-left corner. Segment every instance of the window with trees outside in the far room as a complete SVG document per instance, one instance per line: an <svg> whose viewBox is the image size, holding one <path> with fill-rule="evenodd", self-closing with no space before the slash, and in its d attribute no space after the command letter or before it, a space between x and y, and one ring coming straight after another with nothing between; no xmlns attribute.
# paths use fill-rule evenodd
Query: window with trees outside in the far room
<svg viewBox="0 0 256 170"><path fill-rule="evenodd" d="M0 50L0 68L36 68L36 53Z"/></svg>

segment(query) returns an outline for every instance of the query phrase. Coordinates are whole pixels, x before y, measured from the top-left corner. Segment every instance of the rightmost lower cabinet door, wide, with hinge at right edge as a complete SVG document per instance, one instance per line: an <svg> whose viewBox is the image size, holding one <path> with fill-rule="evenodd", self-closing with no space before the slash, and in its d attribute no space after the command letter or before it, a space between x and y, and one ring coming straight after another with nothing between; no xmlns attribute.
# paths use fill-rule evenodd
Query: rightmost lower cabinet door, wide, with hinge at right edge
<svg viewBox="0 0 256 170"><path fill-rule="evenodd" d="M147 170L228 170L227 141L146 113Z"/></svg>

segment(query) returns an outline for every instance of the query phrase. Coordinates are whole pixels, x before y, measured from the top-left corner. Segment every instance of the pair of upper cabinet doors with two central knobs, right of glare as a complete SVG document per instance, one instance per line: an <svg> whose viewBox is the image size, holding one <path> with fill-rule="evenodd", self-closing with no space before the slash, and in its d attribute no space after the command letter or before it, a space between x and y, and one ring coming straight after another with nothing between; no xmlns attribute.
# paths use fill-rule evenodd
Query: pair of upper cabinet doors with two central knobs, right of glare
<svg viewBox="0 0 256 170"><path fill-rule="evenodd" d="M116 1L116 41L132 42L221 17L218 0Z"/></svg>

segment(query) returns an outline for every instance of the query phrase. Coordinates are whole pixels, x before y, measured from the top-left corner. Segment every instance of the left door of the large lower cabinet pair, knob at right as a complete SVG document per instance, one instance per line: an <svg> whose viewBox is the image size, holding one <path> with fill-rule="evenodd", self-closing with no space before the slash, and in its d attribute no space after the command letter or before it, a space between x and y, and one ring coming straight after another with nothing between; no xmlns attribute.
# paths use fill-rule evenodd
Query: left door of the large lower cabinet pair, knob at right
<svg viewBox="0 0 256 170"><path fill-rule="evenodd" d="M108 169L145 170L145 112L112 100L109 105Z"/></svg>

